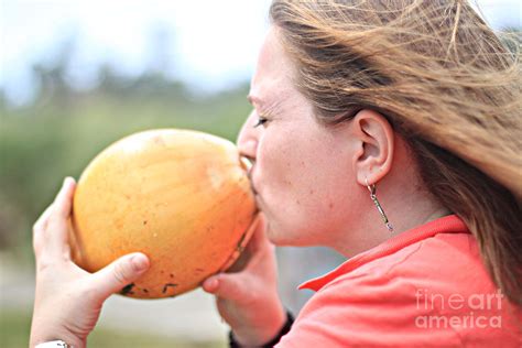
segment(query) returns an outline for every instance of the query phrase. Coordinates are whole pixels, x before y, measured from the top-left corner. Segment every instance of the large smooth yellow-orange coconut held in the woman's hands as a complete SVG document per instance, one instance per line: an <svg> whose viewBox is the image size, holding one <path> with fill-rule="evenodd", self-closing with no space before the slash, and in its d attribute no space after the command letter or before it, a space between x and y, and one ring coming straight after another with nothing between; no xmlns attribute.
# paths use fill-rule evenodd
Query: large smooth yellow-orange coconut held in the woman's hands
<svg viewBox="0 0 522 348"><path fill-rule="evenodd" d="M141 251L151 268L121 293L172 297L238 257L255 211L233 143L188 130L132 134L102 151L78 181L73 259L95 272Z"/></svg>

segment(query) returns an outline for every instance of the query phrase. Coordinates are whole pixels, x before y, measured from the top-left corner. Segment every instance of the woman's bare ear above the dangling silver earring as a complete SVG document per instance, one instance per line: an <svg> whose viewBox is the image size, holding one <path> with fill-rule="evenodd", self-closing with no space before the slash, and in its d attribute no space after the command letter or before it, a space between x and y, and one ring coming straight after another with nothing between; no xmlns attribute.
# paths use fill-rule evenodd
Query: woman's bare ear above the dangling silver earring
<svg viewBox="0 0 522 348"><path fill-rule="evenodd" d="M374 184L391 170L394 150L394 132L379 112L365 109L352 119L352 134L357 142L354 171L360 185Z"/></svg>

